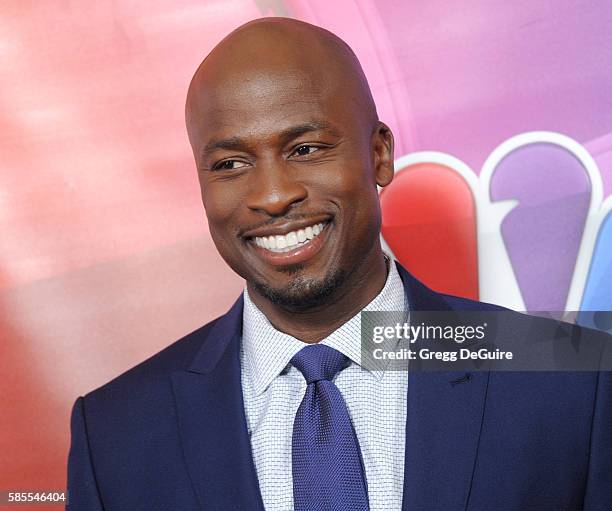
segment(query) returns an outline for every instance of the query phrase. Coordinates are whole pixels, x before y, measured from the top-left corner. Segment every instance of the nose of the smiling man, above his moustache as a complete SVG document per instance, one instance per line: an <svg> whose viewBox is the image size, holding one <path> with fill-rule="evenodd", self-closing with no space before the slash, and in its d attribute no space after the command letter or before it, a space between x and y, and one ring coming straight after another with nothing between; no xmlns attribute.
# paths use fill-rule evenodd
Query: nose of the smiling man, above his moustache
<svg viewBox="0 0 612 511"><path fill-rule="evenodd" d="M285 214L307 196L305 186L296 179L294 169L283 162L260 162L251 173L246 205L270 216Z"/></svg>

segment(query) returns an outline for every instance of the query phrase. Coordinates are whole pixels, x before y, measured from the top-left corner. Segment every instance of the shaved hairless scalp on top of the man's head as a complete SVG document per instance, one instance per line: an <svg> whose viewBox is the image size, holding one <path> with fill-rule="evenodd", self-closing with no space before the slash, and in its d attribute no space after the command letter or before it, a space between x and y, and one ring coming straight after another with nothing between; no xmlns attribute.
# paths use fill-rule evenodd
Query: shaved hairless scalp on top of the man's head
<svg viewBox="0 0 612 511"><path fill-rule="evenodd" d="M192 145L201 139L198 124L211 107L230 107L229 96L248 93L265 103L266 93L277 92L274 84L285 86L295 101L313 91L333 96L353 110L355 122L369 128L378 120L361 65L342 39L302 21L262 18L225 37L194 74L185 112Z"/></svg>

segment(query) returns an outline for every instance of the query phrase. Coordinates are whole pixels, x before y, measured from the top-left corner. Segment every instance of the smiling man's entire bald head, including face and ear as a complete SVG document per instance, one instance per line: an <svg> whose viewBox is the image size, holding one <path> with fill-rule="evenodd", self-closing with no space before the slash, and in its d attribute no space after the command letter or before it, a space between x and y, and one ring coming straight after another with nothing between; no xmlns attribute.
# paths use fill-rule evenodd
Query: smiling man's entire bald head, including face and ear
<svg viewBox="0 0 612 511"><path fill-rule="evenodd" d="M393 135L342 40L284 18L240 27L196 71L186 120L210 234L258 307L371 300Z"/></svg>

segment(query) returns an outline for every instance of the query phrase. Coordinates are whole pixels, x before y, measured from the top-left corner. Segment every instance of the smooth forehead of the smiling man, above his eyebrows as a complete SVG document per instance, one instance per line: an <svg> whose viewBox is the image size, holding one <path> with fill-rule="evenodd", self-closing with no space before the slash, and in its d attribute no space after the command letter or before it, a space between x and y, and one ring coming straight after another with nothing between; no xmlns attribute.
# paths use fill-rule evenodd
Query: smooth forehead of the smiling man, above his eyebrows
<svg viewBox="0 0 612 511"><path fill-rule="evenodd" d="M293 68L237 70L205 76L193 90L190 131L211 138L272 136L306 122L340 130L355 124L358 102L333 76Z"/></svg>

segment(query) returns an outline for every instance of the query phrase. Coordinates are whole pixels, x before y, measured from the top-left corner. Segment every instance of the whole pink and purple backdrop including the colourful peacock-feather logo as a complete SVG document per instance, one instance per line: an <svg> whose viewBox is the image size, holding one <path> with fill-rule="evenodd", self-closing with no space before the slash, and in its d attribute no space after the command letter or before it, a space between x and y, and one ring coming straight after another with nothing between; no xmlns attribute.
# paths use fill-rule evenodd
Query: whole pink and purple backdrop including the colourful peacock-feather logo
<svg viewBox="0 0 612 511"><path fill-rule="evenodd" d="M0 490L64 488L74 399L240 292L183 104L214 44L266 15L361 59L397 141L385 242L417 276L517 309L612 308L609 2L6 1Z"/></svg>

